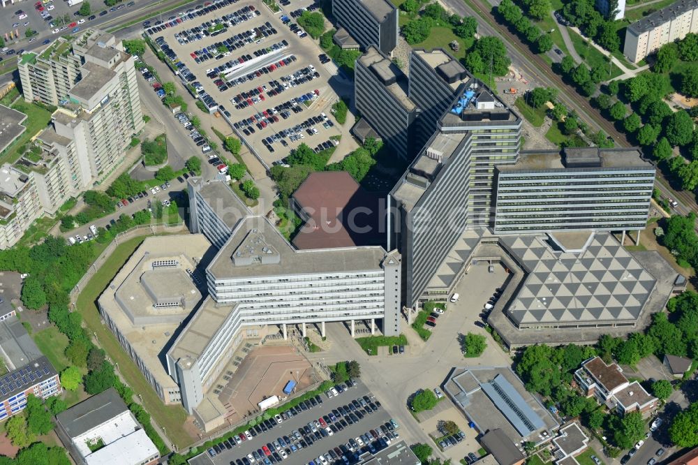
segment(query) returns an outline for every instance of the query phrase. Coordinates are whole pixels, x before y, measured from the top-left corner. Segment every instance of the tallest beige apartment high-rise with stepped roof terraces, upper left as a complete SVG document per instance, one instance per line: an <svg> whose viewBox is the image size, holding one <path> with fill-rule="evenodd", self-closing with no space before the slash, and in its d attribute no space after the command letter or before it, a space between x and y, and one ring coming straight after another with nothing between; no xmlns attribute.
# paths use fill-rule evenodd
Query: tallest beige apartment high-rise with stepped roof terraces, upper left
<svg viewBox="0 0 698 465"><path fill-rule="evenodd" d="M133 57L112 34L87 29L22 55L18 67L27 101L59 105L54 130L75 142L82 185L106 177L144 124Z"/></svg>

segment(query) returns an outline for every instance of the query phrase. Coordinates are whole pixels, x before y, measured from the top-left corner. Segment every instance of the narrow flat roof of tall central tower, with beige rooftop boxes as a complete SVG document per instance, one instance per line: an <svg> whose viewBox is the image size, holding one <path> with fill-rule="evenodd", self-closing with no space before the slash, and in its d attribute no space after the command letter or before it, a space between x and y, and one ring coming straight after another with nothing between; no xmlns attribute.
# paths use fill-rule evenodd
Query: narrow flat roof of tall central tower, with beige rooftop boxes
<svg viewBox="0 0 698 465"><path fill-rule="evenodd" d="M390 195L402 203L409 212L429 189L440 168L463 143L469 133L442 133L437 131L427 142L424 152L419 154L410 168L397 182Z"/></svg>

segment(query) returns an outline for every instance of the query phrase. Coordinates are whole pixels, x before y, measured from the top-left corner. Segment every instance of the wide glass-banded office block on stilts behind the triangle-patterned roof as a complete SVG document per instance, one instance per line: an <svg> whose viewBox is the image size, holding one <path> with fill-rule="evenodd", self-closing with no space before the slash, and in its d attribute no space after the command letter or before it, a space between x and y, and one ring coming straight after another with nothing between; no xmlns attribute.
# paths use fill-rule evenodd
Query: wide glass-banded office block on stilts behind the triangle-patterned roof
<svg viewBox="0 0 698 465"><path fill-rule="evenodd" d="M497 166L494 232L644 230L654 181L637 149L525 152Z"/></svg>

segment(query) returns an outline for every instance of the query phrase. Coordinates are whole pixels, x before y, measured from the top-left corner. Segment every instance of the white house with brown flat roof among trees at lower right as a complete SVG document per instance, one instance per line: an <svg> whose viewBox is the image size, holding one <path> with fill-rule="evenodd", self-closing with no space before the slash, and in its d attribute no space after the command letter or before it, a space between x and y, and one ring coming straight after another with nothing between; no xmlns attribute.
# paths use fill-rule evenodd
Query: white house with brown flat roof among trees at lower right
<svg viewBox="0 0 698 465"><path fill-rule="evenodd" d="M614 408L620 415L639 411L647 416L658 404L658 399L648 394L640 383L630 383L618 364L607 365L600 357L583 362L574 371L574 381L587 397L595 396L601 404Z"/></svg>

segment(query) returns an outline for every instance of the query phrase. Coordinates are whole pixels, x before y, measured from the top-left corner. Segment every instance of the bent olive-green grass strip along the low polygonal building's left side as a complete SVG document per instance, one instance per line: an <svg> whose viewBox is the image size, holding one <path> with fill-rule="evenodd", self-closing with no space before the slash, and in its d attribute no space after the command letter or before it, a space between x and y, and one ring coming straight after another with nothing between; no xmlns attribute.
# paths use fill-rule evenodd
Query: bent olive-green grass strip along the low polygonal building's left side
<svg viewBox="0 0 698 465"><path fill-rule="evenodd" d="M119 341L110 330L101 323L96 300L107 288L114 274L124 265L128 257L143 242L144 237L135 237L117 246L114 252L105 260L103 267L90 279L80 296L77 297L76 308L80 311L88 331L96 332L99 344L106 350L113 362L119 364L119 374L134 392L141 394L145 409L161 426L167 426L168 437L179 446L185 448L193 443L193 437L184 429L186 412L182 406L165 406L150 383L144 378L131 357L121 348Z"/></svg>

